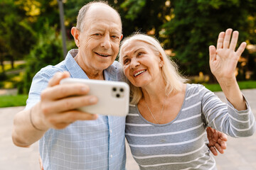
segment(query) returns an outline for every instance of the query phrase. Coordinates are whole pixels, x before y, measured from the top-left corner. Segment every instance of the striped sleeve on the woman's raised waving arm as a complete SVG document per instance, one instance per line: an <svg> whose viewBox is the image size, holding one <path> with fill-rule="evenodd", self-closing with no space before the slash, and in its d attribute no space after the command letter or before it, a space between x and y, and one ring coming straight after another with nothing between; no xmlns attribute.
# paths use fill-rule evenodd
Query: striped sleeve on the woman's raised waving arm
<svg viewBox="0 0 256 170"><path fill-rule="evenodd" d="M205 87L202 92L202 113L206 125L232 137L253 135L256 130L255 118L245 97L247 109L238 111L228 100L223 103Z"/></svg>

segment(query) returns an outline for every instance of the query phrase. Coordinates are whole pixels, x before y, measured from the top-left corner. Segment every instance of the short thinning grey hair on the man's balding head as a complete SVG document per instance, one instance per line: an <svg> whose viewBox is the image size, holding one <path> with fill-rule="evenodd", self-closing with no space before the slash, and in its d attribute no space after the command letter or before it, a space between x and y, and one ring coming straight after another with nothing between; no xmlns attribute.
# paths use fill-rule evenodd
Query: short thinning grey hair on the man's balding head
<svg viewBox="0 0 256 170"><path fill-rule="evenodd" d="M85 25L85 15L86 15L87 11L89 10L90 6L92 6L92 5L101 5L101 6L105 5L105 6L109 6L110 8L112 8L112 6L110 6L110 4L107 3L107 1L90 1L85 6L82 6L82 8L80 8L80 10L78 12L78 18L77 18L77 24L76 24L76 28L78 28L78 30L80 30L81 32L83 31L83 27ZM120 19L120 23L122 24L121 17L119 15L119 13L114 8L112 8L112 9L117 13L117 15L119 16L119 19ZM122 26L121 26L121 28L122 28Z"/></svg>

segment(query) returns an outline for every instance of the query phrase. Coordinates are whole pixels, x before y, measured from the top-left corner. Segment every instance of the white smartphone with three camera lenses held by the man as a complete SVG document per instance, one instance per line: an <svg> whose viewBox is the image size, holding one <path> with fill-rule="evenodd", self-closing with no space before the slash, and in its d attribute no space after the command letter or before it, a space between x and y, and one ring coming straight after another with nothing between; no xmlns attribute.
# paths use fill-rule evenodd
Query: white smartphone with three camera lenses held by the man
<svg viewBox="0 0 256 170"><path fill-rule="evenodd" d="M97 96L92 106L78 108L92 114L125 116L129 112L129 85L119 81L66 78L60 84L83 83L90 87L89 95Z"/></svg>

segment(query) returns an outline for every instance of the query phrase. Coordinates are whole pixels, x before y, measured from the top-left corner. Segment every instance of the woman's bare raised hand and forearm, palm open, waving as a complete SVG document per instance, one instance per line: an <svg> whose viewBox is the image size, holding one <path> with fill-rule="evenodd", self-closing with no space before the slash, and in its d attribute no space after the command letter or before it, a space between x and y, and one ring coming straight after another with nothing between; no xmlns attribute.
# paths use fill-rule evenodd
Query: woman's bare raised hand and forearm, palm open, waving
<svg viewBox="0 0 256 170"><path fill-rule="evenodd" d="M246 42L242 42L238 50L235 51L238 34L238 31L234 31L232 35L232 29L230 28L225 33L221 32L218 36L217 48L211 45L209 51L211 72L216 77L228 101L238 111L242 111L246 110L246 105L235 78L235 69L240 55L245 50Z"/></svg>

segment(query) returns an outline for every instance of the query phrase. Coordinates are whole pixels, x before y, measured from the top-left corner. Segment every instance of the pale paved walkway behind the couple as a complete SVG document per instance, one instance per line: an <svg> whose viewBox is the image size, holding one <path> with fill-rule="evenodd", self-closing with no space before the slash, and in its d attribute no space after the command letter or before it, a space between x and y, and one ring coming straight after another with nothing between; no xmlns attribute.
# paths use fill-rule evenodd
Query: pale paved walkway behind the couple
<svg viewBox="0 0 256 170"><path fill-rule="evenodd" d="M256 89L242 90L250 102L256 117ZM215 93L221 99L222 92ZM29 148L16 147L11 140L14 115L23 107L0 108L0 169L38 170L38 142ZM218 170L256 170L256 134L252 137L234 139L228 137L225 154L215 157ZM127 147L127 170L138 170L129 147Z"/></svg>

